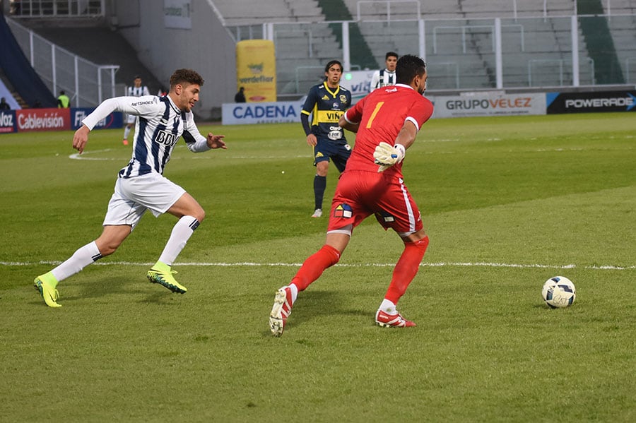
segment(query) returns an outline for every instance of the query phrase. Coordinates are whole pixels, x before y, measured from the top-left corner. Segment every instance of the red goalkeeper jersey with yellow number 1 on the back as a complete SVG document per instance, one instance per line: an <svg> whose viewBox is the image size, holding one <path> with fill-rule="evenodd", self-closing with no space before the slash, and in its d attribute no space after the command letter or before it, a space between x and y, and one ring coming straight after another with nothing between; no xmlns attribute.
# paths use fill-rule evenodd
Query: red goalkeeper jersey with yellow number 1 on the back
<svg viewBox="0 0 636 423"><path fill-rule="evenodd" d="M358 101L345 114L349 123L360 122L346 171L377 172L373 159L376 146L381 141L394 145L395 138L406 121L413 122L419 131L432 112L430 100L404 84L379 88ZM402 164L391 166L384 173L401 177Z"/></svg>

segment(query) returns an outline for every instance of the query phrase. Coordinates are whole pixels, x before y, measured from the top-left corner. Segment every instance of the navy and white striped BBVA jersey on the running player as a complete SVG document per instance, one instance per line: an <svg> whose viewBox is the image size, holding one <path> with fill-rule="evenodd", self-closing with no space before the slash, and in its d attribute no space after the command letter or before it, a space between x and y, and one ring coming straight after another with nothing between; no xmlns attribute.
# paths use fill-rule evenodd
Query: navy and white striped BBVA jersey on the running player
<svg viewBox="0 0 636 423"><path fill-rule="evenodd" d="M206 137L199 133L192 112L182 112L169 96L114 97L105 100L82 123L93 129L112 112L139 117L130 162L119 171L120 178L131 178L151 172L163 174L172 150L183 139L194 153L210 150Z"/></svg>

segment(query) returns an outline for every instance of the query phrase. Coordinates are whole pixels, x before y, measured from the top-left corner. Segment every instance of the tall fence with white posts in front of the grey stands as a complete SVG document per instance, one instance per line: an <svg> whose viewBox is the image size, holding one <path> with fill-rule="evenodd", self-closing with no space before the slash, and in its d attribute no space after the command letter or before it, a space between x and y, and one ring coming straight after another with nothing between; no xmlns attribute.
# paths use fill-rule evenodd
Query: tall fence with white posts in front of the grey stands
<svg viewBox="0 0 636 423"><path fill-rule="evenodd" d="M606 31L586 33L582 24L591 19L606 25ZM306 93L322 76L319 65L334 58L341 59L346 71L365 68L355 57L360 39L378 68L384 66L386 52L422 56L430 90L576 88L636 81L634 14L268 23L228 30L237 39L256 35L273 40L279 95ZM311 68L318 71L308 74Z"/></svg>

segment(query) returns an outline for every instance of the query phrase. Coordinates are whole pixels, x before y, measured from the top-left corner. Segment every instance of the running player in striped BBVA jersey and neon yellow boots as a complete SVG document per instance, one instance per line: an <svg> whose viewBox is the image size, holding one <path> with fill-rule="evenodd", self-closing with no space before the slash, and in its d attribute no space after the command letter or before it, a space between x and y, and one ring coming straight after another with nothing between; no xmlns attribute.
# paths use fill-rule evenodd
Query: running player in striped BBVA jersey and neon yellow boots
<svg viewBox="0 0 636 423"><path fill-rule="evenodd" d="M113 254L139 223L146 210L157 217L163 213L178 219L172 228L157 263L146 277L172 292L184 294L187 288L175 280L172 263L186 245L196 227L205 218L201 205L181 186L163 177L163 169L172 150L183 137L194 153L211 148L226 148L223 135L202 136L194 124L192 107L199 101L204 80L190 69L178 69L170 78L170 93L165 97L115 97L105 100L82 121L73 136L73 148L80 154L88 133L112 112L132 114L137 119L130 162L119 171L114 193L108 203L102 234L81 247L68 260L35 278L35 287L47 306L59 307L57 284L78 273L98 259Z"/></svg>

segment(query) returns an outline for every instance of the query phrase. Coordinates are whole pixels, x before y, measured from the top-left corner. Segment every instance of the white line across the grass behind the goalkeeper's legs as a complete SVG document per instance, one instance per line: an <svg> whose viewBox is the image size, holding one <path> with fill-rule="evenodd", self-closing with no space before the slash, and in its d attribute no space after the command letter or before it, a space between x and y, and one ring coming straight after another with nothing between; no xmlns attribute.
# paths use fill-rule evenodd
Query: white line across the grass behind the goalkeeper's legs
<svg viewBox="0 0 636 423"><path fill-rule="evenodd" d="M57 266L61 261L0 261L0 266L36 266L47 264L49 266ZM97 266L153 266L153 263L134 263L131 261L107 261L94 263ZM216 267L300 267L302 263L254 263L250 261L236 263L175 263L177 266L216 266ZM339 263L338 267L343 268L361 268L361 267L394 267L395 263ZM613 265L594 265L594 266L577 266L575 264L522 264L522 263L422 263L422 267L489 267L489 268L541 268L541 269L585 269L585 270L635 270L636 266L613 266Z"/></svg>

